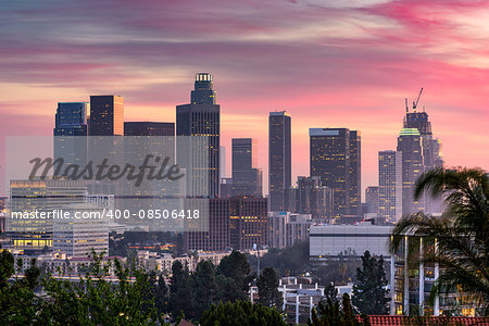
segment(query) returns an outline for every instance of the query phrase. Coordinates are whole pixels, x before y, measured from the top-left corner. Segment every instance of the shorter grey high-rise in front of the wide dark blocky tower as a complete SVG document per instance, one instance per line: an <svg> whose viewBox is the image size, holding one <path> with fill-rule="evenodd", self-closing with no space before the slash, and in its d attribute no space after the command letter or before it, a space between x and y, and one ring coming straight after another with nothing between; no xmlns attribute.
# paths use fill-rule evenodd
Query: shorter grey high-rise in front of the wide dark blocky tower
<svg viewBox="0 0 489 326"><path fill-rule="evenodd" d="M333 215L333 190L322 186L318 176L299 176L297 186L289 188L288 196L289 212L310 214L314 220Z"/></svg>

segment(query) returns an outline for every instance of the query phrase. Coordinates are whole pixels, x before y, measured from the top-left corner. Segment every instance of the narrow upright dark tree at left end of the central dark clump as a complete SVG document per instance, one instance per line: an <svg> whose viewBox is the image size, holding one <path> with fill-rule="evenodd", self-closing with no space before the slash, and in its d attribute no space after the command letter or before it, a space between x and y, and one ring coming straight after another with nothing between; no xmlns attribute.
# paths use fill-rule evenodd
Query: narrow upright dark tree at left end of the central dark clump
<svg viewBox="0 0 489 326"><path fill-rule="evenodd" d="M192 316L192 292L188 268L176 261L172 265L170 280L170 312L176 318L183 312L185 316Z"/></svg>

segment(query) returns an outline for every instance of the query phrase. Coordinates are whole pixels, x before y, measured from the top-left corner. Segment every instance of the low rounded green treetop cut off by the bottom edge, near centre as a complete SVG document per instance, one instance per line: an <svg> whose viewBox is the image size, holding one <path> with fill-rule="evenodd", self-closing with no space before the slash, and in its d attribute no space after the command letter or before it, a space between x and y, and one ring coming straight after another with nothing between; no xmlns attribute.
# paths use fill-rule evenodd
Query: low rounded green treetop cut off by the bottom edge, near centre
<svg viewBox="0 0 489 326"><path fill-rule="evenodd" d="M240 326L285 326L280 313L262 304L252 304L250 301L220 302L212 305L200 318L202 326L240 325Z"/></svg>

